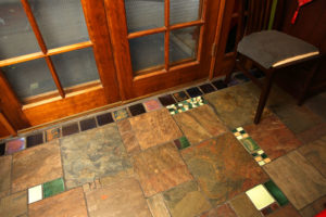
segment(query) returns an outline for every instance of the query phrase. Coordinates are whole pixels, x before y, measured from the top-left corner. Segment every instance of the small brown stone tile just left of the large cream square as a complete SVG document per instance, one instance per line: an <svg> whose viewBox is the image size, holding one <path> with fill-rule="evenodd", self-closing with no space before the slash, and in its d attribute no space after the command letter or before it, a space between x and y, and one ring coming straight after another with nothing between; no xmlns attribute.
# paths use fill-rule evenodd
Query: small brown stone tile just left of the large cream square
<svg viewBox="0 0 326 217"><path fill-rule="evenodd" d="M261 213L254 207L249 197L242 193L231 200L230 205L238 217L261 217Z"/></svg>

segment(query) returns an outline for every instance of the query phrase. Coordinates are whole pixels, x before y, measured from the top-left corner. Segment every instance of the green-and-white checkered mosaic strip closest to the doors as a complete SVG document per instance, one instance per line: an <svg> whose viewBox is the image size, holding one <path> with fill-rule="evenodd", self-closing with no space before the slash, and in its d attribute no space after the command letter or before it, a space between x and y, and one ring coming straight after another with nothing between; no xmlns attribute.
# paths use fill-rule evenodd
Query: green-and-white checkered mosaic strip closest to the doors
<svg viewBox="0 0 326 217"><path fill-rule="evenodd" d="M197 97L172 105L167 105L166 108L168 110L170 114L175 115L178 113L186 112L188 110L192 110L195 107L199 107L206 103L208 102L202 97Z"/></svg>

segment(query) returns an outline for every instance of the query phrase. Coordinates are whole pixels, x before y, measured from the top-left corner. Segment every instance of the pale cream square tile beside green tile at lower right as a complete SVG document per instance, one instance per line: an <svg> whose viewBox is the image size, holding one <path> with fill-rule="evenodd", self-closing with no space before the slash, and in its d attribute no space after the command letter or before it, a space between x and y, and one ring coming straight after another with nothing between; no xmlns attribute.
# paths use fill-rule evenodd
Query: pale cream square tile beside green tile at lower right
<svg viewBox="0 0 326 217"><path fill-rule="evenodd" d="M246 194L259 210L267 207L275 202L273 196L268 193L263 184L259 184L253 189L250 189L246 192Z"/></svg>

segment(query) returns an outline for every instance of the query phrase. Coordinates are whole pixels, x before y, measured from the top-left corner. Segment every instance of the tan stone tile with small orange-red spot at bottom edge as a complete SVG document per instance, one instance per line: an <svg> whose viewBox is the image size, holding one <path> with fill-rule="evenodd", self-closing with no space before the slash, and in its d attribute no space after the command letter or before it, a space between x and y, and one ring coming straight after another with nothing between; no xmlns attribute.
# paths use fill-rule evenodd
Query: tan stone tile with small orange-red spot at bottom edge
<svg viewBox="0 0 326 217"><path fill-rule="evenodd" d="M126 179L86 193L90 217L148 216L150 210L136 179Z"/></svg>

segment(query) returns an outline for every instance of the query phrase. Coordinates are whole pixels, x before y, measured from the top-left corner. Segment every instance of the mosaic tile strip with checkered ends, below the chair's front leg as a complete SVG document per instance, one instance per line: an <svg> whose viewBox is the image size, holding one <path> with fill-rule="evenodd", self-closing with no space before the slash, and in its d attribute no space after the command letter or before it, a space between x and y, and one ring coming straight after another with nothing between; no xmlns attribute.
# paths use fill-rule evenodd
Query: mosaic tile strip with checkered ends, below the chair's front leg
<svg viewBox="0 0 326 217"><path fill-rule="evenodd" d="M267 154L249 137L242 127L234 129L233 133L260 166L264 166L271 162Z"/></svg>

